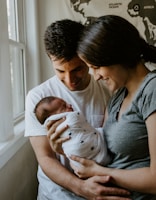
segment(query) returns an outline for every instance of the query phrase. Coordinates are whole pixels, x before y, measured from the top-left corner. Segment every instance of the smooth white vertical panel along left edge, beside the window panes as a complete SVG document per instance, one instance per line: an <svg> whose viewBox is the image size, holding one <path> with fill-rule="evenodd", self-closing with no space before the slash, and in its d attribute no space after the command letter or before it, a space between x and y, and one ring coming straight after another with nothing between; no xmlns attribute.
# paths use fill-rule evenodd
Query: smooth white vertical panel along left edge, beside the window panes
<svg viewBox="0 0 156 200"><path fill-rule="evenodd" d="M13 115L9 65L9 39L6 12L6 2L5 0L2 0L0 5L0 29L3 30L0 34L0 111L3 117L1 117L0 120L0 142L3 142L13 136Z"/></svg>

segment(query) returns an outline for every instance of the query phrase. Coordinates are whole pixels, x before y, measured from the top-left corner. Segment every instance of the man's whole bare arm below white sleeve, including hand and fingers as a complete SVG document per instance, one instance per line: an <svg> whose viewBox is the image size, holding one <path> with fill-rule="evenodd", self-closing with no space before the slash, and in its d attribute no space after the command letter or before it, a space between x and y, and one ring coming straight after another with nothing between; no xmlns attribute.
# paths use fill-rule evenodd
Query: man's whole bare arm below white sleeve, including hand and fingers
<svg viewBox="0 0 156 200"><path fill-rule="evenodd" d="M109 181L108 177L96 176L86 180L79 179L57 160L55 153L49 145L47 136L30 137L30 142L44 173L55 183L75 194L88 200L95 200L96 197L100 196L102 199L109 200L112 199L110 195L123 196L128 194L127 191L122 189L102 186L102 184ZM108 195L108 198L104 195ZM127 200L127 198L124 197L116 197L115 199Z"/></svg>

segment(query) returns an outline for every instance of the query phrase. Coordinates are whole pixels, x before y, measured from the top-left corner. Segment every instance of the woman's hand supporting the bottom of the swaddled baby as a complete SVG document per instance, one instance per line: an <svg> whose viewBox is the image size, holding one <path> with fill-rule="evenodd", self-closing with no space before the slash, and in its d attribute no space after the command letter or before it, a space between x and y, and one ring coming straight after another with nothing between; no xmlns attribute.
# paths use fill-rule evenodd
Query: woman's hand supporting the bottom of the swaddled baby
<svg viewBox="0 0 156 200"><path fill-rule="evenodd" d="M98 167L98 164L95 161L80 158L79 156L74 155L70 156L70 158L80 163L79 166L75 166L74 164L70 163L72 169L74 170L74 173L79 178L89 178L97 175L96 168Z"/></svg>

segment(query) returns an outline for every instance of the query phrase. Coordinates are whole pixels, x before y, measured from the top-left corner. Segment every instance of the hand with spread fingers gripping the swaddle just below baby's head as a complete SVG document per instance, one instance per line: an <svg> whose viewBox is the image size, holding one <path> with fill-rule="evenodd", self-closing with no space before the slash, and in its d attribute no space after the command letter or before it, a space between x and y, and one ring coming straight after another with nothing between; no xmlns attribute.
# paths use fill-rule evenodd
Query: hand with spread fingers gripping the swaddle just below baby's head
<svg viewBox="0 0 156 200"><path fill-rule="evenodd" d="M68 129L68 125L66 125L63 128L60 128L57 130L57 127L65 120L65 118L62 118L60 120L51 120L47 123L46 128L48 130L48 140L50 143L51 148L53 149L54 152L63 154L63 149L62 149L62 143L69 140L70 137L60 137L61 134Z"/></svg>

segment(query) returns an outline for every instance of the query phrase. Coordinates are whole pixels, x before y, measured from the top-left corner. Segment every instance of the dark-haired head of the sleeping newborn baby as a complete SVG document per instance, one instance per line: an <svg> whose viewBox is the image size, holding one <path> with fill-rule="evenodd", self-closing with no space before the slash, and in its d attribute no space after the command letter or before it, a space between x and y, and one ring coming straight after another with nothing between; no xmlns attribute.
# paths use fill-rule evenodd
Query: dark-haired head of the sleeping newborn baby
<svg viewBox="0 0 156 200"><path fill-rule="evenodd" d="M44 124L45 120L51 115L71 111L73 111L71 104L67 104L63 99L54 96L44 97L36 104L34 109L34 113L41 124Z"/></svg>

